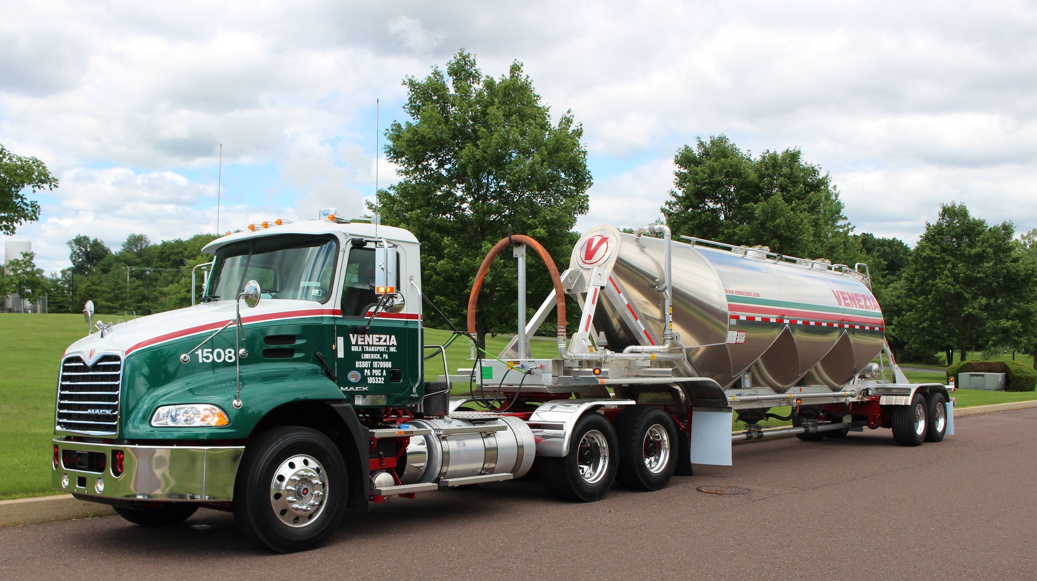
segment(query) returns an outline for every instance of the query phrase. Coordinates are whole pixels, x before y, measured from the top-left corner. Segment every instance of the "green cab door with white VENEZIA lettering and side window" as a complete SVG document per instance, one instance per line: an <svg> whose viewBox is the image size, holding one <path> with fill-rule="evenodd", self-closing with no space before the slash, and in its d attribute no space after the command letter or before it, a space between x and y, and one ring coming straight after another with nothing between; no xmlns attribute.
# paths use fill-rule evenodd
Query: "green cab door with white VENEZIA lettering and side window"
<svg viewBox="0 0 1037 581"><path fill-rule="evenodd" d="M419 322L387 310L374 313L382 297L375 283L399 287L399 267L390 278L377 276L375 241L354 241L348 248L342 279L342 315L336 326L335 372L342 393L356 406L386 406L402 403L398 396L414 395L416 385L413 356ZM383 246L384 248L384 246ZM380 250L380 249L379 249ZM395 253L391 256L396 260ZM385 271L383 271L385 272ZM373 319L372 319L373 316Z"/></svg>

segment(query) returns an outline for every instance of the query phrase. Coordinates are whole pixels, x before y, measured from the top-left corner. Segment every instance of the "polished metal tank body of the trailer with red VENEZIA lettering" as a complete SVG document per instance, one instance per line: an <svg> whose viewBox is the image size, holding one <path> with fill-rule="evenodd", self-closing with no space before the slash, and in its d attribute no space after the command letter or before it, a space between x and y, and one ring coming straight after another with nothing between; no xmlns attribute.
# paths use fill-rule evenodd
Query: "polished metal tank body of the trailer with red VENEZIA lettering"
<svg viewBox="0 0 1037 581"><path fill-rule="evenodd" d="M673 330L688 350L679 369L725 388L839 388L881 350L885 322L865 277L763 250L671 242ZM660 344L665 242L598 226L570 268L608 274L594 328L609 349ZM848 272L847 272L848 271Z"/></svg>

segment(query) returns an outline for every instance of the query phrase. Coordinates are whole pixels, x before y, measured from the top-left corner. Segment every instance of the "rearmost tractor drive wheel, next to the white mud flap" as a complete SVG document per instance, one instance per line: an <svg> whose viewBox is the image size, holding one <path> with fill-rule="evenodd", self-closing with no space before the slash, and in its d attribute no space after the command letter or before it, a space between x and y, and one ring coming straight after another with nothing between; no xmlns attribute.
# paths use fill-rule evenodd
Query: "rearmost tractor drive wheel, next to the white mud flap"
<svg viewBox="0 0 1037 581"><path fill-rule="evenodd" d="M632 490L666 488L677 468L677 428L658 408L634 406L613 423L619 441L616 481Z"/></svg>

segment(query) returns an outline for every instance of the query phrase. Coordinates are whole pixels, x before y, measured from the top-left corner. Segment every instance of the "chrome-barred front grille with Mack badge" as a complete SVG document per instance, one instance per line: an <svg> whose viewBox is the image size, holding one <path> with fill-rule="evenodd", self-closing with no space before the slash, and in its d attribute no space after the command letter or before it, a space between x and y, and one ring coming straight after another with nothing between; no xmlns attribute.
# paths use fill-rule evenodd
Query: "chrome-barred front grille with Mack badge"
<svg viewBox="0 0 1037 581"><path fill-rule="evenodd" d="M122 359L104 355L87 365L78 355L61 363L56 428L83 434L115 434L119 421Z"/></svg>

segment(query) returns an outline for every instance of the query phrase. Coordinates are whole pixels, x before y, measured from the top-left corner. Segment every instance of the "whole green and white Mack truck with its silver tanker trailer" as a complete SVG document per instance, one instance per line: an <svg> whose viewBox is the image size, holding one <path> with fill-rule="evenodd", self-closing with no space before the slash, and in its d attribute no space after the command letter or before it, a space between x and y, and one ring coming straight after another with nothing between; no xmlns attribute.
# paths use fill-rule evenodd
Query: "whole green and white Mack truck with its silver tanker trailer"
<svg viewBox="0 0 1037 581"><path fill-rule="evenodd" d="M54 488L150 526L230 510L253 541L289 552L323 543L346 508L534 465L553 495L593 501L614 482L651 491L695 464L730 465L737 440L953 433L953 388L896 366L865 265L597 226L559 273L513 236L483 260L469 332L451 340L472 338L483 276L508 248L515 337L429 381L426 360L450 367L444 345L423 344L413 234L328 213L217 239L202 303L96 322L65 352ZM527 322L529 249L554 289ZM571 337L567 296L581 308ZM552 313L557 354L533 357ZM791 425L760 425L775 417Z"/></svg>

